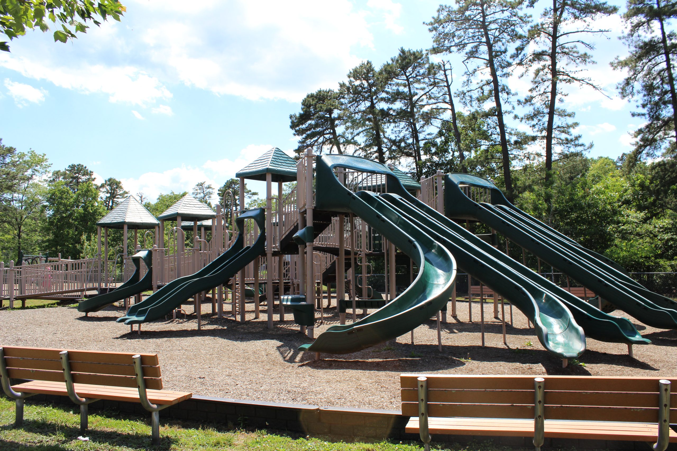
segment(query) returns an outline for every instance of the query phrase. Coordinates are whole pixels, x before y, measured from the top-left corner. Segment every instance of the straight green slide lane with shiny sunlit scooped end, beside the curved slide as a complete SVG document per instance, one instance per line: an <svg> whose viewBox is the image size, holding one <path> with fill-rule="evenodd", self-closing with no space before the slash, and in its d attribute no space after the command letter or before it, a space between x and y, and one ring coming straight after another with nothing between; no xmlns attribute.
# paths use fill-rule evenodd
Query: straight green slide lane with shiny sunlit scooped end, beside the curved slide
<svg viewBox="0 0 677 451"><path fill-rule="evenodd" d="M585 335L567 306L552 293L519 275L471 243L443 227L402 197L384 194L393 209L447 247L459 267L483 281L531 320L544 348L559 358L576 358L585 350Z"/></svg>

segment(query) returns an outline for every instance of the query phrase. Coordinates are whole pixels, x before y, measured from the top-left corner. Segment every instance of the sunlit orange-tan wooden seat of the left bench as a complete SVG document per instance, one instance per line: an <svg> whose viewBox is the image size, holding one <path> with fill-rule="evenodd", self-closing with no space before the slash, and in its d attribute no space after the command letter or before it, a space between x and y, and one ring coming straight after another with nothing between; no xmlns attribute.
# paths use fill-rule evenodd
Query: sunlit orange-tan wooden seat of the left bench
<svg viewBox="0 0 677 451"><path fill-rule="evenodd" d="M114 401L139 402L139 391L136 387L108 387L106 385L74 384L75 391L84 398L96 398ZM48 395L67 396L66 383L30 381L13 385L12 389L19 392L39 393ZM184 391L146 390L148 400L153 404L173 405L187 400L192 394Z"/></svg>

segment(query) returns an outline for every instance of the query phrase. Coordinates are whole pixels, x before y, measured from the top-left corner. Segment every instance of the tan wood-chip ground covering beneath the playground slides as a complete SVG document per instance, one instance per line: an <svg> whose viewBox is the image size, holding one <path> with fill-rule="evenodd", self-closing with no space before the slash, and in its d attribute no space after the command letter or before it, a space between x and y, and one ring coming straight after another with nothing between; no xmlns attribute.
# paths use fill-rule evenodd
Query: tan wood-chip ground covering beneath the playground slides
<svg viewBox="0 0 677 451"><path fill-rule="evenodd" d="M192 306L184 308L192 312ZM202 330L197 330L194 316L188 316L188 321L144 324L141 335L115 323L123 314L115 307L89 318L68 307L2 310L0 343L158 352L167 389L203 396L394 410L399 409L400 373L677 375L677 331L645 327L632 318L642 335L654 343L635 346L636 359L627 355L624 344L588 338L588 349L580 358L585 366L570 362L569 368L562 369L561 360L542 348L517 309L513 309L515 327L507 327L511 349L502 343L502 327L492 318L491 305L485 306L486 347L481 348L479 304L473 304L475 323L470 324L468 304L458 302L460 322L449 317L449 323L443 324L443 352L437 350L437 331L431 320L414 331L414 348L406 334L392 349L380 345L342 356L323 354L319 361L311 360L311 353L297 351L310 340L298 332L290 314L288 321L268 331L262 310L260 320L254 321L248 313L248 321L240 324L232 318L211 317L211 304L205 303ZM328 324L319 326L317 333L339 323L332 315L326 319ZM526 346L528 341L533 344Z"/></svg>

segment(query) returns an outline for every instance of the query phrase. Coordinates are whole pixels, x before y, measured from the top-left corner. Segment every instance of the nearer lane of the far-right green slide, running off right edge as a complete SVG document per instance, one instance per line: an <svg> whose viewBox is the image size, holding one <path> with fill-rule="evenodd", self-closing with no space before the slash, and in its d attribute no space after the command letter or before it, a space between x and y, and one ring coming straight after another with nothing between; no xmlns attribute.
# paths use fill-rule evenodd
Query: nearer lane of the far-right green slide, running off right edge
<svg viewBox="0 0 677 451"><path fill-rule="evenodd" d="M632 315L642 323L658 329L677 328L677 311L663 308L644 298L639 287L628 287L615 280L609 273L593 266L586 260L563 247L548 242L540 233L521 229L519 222L513 222L502 210L486 204L479 206L477 218L496 229L511 241L538 256L547 264L559 268L569 277L590 288L617 308ZM648 291L648 290L645 290Z"/></svg>

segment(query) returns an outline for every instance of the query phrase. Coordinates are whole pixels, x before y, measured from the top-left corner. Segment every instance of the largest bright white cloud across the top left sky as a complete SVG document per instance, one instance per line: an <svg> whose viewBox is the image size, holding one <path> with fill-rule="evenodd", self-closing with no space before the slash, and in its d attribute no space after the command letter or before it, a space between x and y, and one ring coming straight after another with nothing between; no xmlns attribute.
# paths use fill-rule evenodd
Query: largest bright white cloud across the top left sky
<svg viewBox="0 0 677 451"><path fill-rule="evenodd" d="M92 27L72 45L30 32L0 55L0 67L141 107L171 98L168 87L179 83L299 101L335 86L359 63L354 50L373 48L372 25L401 31L401 5L393 0L209 0L190 11L176 3L129 0L123 22Z"/></svg>

